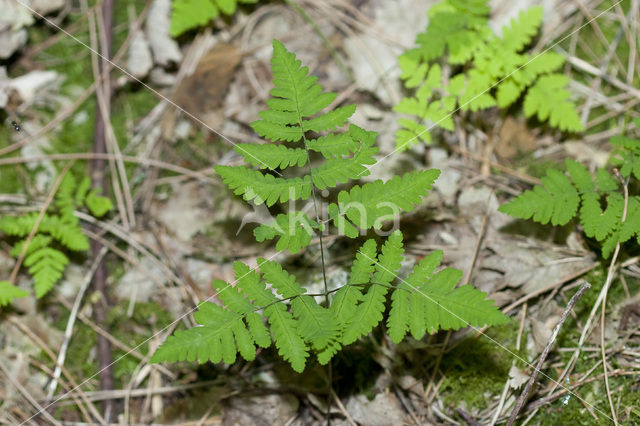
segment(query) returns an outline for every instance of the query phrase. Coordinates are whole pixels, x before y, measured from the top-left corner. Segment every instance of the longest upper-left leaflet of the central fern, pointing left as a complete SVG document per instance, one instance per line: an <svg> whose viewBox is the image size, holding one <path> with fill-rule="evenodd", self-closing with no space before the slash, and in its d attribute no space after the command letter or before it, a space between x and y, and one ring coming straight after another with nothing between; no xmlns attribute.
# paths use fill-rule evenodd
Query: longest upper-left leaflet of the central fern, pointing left
<svg viewBox="0 0 640 426"><path fill-rule="evenodd" d="M265 203L272 206L277 201L286 203L289 200L306 200L311 196L309 176L285 179L235 166L215 166L214 170L235 194L242 195L247 201L253 200L256 205Z"/></svg>

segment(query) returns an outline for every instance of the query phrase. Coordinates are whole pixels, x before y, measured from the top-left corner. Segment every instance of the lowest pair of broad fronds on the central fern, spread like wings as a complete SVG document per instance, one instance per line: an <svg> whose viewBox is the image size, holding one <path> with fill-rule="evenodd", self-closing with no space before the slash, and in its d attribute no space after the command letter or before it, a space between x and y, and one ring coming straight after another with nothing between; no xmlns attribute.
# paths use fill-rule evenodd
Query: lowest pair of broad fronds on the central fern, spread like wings
<svg viewBox="0 0 640 426"><path fill-rule="evenodd" d="M434 273L442 260L441 251L423 259L406 280L397 280L403 251L400 231L389 237L380 254L376 254L375 241L367 240L356 255L348 284L336 292L328 309L306 295L296 277L278 263L258 259L258 272L236 262L234 283L213 283L223 307L201 303L194 317L202 326L177 331L151 361L233 363L237 352L250 361L255 345L267 347L273 339L278 353L302 372L311 350L326 364L342 346L369 334L382 321L389 291L392 307L387 324L394 342L402 340L407 329L420 339L439 329L507 320L492 301L485 300L486 293L470 285L456 288L460 271L446 268ZM394 281L399 282L394 286ZM273 291L266 289L267 283Z"/></svg>

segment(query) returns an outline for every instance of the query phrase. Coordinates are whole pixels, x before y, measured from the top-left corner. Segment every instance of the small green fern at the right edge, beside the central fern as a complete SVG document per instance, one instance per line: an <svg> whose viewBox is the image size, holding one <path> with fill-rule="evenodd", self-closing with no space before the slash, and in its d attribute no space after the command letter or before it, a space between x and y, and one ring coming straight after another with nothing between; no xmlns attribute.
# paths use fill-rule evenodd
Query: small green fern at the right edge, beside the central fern
<svg viewBox="0 0 640 426"><path fill-rule="evenodd" d="M640 124L640 122L638 123ZM610 162L626 180L640 179L640 140L615 136ZM585 166L567 159L567 173L549 170L542 185L526 190L499 210L520 219L552 225L565 225L577 217L585 235L602 245L602 255L608 258L618 243L633 237L640 244L640 195L630 194L625 209L624 188L616 174L600 168L595 176ZM637 185L636 185L637 187Z"/></svg>

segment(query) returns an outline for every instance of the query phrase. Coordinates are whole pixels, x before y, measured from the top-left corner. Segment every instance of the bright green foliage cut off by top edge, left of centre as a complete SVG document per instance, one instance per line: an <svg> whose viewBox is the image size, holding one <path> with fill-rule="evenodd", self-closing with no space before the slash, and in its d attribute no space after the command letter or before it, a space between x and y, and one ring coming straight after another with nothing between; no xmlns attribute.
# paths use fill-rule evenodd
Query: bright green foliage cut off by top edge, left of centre
<svg viewBox="0 0 640 426"><path fill-rule="evenodd" d="M208 24L212 19L233 15L237 3L256 3L258 0L174 0L170 34L177 37L185 31Z"/></svg>

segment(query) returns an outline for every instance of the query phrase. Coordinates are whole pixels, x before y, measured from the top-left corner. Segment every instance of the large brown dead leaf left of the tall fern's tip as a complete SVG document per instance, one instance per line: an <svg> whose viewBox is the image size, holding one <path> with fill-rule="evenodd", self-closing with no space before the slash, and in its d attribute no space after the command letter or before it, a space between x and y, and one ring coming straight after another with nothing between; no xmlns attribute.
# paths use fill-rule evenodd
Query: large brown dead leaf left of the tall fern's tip
<svg viewBox="0 0 640 426"><path fill-rule="evenodd" d="M242 54L232 44L218 43L207 52L195 72L176 90L175 101L196 117L222 105Z"/></svg>

